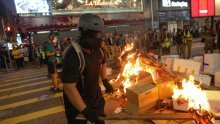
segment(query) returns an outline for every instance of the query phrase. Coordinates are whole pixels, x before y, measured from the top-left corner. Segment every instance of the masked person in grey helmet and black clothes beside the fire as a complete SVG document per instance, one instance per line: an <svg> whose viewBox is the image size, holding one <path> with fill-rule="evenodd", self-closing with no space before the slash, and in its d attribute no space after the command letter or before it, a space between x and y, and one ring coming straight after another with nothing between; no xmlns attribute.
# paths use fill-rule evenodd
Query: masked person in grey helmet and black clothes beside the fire
<svg viewBox="0 0 220 124"><path fill-rule="evenodd" d="M106 93L113 93L112 85L105 76L105 60L101 51L103 20L94 14L82 14L79 19L80 45L85 59L85 69L80 72L80 61L73 46L67 47L63 59L63 98L68 124L86 124L87 120L95 124L104 124L99 116L104 116L105 100L99 87L101 75ZM77 120L78 114L86 120Z"/></svg>

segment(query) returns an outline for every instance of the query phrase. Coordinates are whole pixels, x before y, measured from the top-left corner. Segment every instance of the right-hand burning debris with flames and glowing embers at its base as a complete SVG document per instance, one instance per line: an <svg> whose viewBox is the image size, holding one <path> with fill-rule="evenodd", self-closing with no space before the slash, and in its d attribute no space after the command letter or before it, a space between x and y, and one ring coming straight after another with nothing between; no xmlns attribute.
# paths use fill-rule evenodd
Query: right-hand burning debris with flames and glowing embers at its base
<svg viewBox="0 0 220 124"><path fill-rule="evenodd" d="M193 118L197 124L213 124L214 116L211 111L206 93L199 85L195 85L194 77L190 76L187 81L182 81L182 87L173 87L174 109L189 111L194 114Z"/></svg>

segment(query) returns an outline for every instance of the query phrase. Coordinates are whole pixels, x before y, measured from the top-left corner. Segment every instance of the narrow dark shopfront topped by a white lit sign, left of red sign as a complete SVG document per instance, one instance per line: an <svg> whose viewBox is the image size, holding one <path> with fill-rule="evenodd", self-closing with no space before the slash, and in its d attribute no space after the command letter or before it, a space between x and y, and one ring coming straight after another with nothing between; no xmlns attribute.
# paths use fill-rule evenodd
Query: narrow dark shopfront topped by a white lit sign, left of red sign
<svg viewBox="0 0 220 124"><path fill-rule="evenodd" d="M158 15L160 28L182 28L190 22L190 0L159 0Z"/></svg>

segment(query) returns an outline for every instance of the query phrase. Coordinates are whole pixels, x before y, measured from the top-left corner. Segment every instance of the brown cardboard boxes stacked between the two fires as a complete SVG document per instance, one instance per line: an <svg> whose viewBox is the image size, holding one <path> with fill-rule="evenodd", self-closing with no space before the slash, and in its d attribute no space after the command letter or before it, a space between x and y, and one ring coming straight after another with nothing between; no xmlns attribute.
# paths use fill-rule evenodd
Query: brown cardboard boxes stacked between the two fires
<svg viewBox="0 0 220 124"><path fill-rule="evenodd" d="M160 78L156 84L148 78L144 82L126 89L127 104L125 111L128 113L142 113L156 106L159 100L170 99L173 95L174 80Z"/></svg>

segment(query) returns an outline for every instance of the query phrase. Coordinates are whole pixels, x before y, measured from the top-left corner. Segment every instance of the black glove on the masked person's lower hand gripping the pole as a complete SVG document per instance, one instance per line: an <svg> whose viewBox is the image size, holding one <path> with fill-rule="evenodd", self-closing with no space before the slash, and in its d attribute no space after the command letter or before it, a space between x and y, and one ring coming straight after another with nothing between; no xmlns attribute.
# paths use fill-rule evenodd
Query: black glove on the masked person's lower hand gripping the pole
<svg viewBox="0 0 220 124"><path fill-rule="evenodd" d="M98 115L96 114L95 111L93 110L90 110L88 107L86 107L82 112L81 112L85 118L90 121L90 122L99 122L99 118L98 118Z"/></svg>

